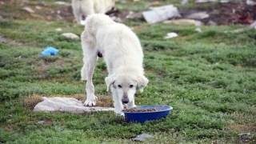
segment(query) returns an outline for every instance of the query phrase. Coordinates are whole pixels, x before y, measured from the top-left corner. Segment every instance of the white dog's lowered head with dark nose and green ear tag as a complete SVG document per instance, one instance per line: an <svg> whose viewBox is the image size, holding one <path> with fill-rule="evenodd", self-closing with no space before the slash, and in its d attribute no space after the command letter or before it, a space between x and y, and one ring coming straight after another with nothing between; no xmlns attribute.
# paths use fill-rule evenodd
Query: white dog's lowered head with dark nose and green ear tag
<svg viewBox="0 0 256 144"><path fill-rule="evenodd" d="M112 90L113 95L126 104L134 101L136 90L143 92L149 80L144 75L127 76L125 74L110 75L105 78L107 91Z"/></svg>

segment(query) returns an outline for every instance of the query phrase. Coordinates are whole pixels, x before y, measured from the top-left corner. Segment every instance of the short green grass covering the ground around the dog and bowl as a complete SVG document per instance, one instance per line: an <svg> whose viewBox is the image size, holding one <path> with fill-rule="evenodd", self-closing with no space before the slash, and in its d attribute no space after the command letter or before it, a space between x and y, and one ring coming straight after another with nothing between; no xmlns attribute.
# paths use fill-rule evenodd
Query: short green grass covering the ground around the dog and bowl
<svg viewBox="0 0 256 144"><path fill-rule="evenodd" d="M38 2L27 5L37 6ZM149 2L127 1L124 5L119 1L117 6L139 11L146 10ZM163 2L178 5L178 1ZM46 4L65 8L53 0ZM21 18L16 18L19 12ZM0 22L0 36L6 39L0 43L0 143L133 143L130 138L144 133L154 136L145 143L256 141L256 30L200 26L202 33L197 33L196 26L124 22L136 29L142 42L143 65L150 80L144 92L136 94L135 104L174 107L166 118L141 124L126 122L114 112L31 111L31 95L85 100L85 83L80 82L81 42L61 36L65 32L80 35L84 26L64 20L49 24L23 12L18 2L0 7L0 15L6 17ZM240 28L245 31L225 32ZM163 39L169 32L177 33L178 38ZM58 55L39 57L47 46L58 49ZM95 93L107 97L111 94L106 92L106 75L106 64L99 59Z"/></svg>

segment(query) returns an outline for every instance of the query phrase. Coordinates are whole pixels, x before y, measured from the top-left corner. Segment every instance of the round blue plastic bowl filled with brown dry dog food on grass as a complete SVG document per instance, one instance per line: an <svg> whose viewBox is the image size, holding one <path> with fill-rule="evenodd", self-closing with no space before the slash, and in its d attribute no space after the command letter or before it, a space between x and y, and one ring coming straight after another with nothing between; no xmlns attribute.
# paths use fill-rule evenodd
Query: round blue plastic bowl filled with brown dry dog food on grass
<svg viewBox="0 0 256 144"><path fill-rule="evenodd" d="M160 109L158 111L149 111L149 112L126 112L122 111L125 114L126 120L128 122L145 122L150 120L160 119L169 114L170 110L173 110L171 106L138 106L133 107L131 109L152 109L157 108Z"/></svg>

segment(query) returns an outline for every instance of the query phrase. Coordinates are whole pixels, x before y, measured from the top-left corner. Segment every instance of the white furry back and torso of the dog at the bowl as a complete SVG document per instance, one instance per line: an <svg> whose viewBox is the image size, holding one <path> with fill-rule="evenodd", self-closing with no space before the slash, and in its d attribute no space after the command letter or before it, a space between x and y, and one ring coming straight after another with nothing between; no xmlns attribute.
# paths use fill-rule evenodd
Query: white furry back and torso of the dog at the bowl
<svg viewBox="0 0 256 144"><path fill-rule="evenodd" d="M82 43L97 48L108 66L135 66L142 69L143 52L138 37L129 27L114 22L105 14L92 14L86 18Z"/></svg>

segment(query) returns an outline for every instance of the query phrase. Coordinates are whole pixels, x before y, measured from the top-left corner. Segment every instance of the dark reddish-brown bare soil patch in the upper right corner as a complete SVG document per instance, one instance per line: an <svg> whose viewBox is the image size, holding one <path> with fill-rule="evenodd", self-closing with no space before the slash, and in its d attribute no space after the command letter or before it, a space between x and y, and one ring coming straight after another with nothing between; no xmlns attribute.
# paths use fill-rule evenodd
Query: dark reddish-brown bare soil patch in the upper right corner
<svg viewBox="0 0 256 144"><path fill-rule="evenodd" d="M182 17L195 12L206 11L210 15L200 21L206 25L215 22L216 25L234 25L234 24L250 24L256 20L256 5L248 6L246 1L225 2L217 5L212 4L207 8L200 8L200 4L195 4L194 8L179 10Z"/></svg>

